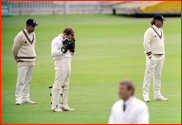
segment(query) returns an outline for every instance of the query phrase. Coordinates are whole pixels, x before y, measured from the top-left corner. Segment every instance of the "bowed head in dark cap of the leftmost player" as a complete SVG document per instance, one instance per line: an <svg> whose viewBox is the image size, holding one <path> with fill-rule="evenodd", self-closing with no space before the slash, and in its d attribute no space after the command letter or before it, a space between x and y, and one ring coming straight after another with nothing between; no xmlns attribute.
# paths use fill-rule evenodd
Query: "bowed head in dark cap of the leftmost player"
<svg viewBox="0 0 182 125"><path fill-rule="evenodd" d="M35 30L35 26L37 25L38 24L36 23L34 19L28 19L26 22L26 29L28 33L32 33Z"/></svg>

